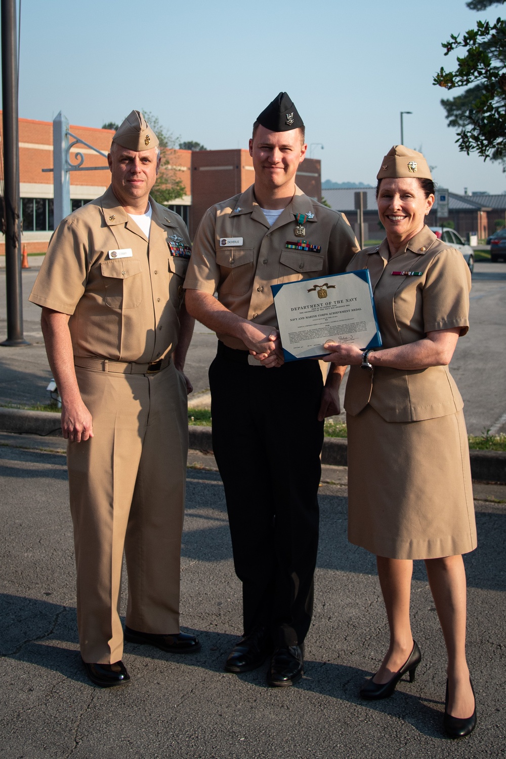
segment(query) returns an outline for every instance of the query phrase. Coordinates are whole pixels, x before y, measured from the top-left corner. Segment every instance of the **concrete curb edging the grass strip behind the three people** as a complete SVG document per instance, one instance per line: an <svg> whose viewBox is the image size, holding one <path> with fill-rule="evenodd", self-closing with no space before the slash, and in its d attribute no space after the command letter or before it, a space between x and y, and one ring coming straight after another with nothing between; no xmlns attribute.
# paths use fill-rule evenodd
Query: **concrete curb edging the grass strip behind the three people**
<svg viewBox="0 0 506 759"><path fill-rule="evenodd" d="M0 408L0 430L27 435L61 437L60 417L51 411L25 411L20 408ZM189 447L194 451L212 453L211 427L189 427ZM470 451L473 480L506 483L506 452ZM322 464L348 465L348 440L326 437L321 453Z"/></svg>

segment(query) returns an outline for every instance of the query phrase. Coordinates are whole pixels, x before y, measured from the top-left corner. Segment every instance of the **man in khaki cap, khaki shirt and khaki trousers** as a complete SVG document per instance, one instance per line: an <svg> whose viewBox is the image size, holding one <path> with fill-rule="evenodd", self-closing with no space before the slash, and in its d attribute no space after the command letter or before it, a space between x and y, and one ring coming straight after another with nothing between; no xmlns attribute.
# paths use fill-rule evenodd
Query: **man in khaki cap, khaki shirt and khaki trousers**
<svg viewBox="0 0 506 759"><path fill-rule="evenodd" d="M189 238L180 216L149 198L160 150L138 111L114 134L108 162L111 186L58 226L30 295L42 306L68 439L81 655L105 687L130 679L123 546L126 640L173 653L200 647L179 626Z"/></svg>

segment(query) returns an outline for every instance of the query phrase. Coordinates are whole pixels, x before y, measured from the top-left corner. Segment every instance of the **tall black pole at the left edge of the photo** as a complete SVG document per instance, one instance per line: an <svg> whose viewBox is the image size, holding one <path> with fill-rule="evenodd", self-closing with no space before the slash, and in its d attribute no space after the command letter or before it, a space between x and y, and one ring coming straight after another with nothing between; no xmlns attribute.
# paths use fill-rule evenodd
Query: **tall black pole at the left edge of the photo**
<svg viewBox="0 0 506 759"><path fill-rule="evenodd" d="M20 257L16 0L2 0L2 101L4 124L7 340L4 340L0 345L28 345L27 341L23 339L23 291Z"/></svg>

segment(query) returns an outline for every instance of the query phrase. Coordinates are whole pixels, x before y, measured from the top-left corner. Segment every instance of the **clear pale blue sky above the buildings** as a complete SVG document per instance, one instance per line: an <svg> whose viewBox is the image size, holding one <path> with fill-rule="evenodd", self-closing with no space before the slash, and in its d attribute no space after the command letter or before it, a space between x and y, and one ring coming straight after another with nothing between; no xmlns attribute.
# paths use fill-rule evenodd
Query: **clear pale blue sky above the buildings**
<svg viewBox="0 0 506 759"><path fill-rule="evenodd" d="M478 18L464 0L22 0L20 116L100 127L133 108L182 140L247 147L280 90L307 125L323 179L373 183L400 140L451 191L506 190L500 165L459 153L433 87L441 43ZM454 91L457 93L458 91Z"/></svg>

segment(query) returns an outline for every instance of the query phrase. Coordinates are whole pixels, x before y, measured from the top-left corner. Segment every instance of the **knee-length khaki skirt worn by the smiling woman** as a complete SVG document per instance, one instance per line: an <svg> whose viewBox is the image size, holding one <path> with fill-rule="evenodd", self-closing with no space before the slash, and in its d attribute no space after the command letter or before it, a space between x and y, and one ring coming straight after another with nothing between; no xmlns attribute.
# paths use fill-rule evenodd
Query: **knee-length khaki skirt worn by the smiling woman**
<svg viewBox="0 0 506 759"><path fill-rule="evenodd" d="M348 424L348 540L376 556L436 559L476 548L464 414Z"/></svg>

